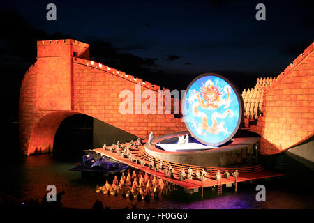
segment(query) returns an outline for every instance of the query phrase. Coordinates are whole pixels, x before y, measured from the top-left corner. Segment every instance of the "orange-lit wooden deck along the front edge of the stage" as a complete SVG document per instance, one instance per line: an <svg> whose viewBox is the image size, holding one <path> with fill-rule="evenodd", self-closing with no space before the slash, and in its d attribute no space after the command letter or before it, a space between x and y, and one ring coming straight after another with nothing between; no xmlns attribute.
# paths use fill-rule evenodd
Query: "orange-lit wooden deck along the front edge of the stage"
<svg viewBox="0 0 314 223"><path fill-rule="evenodd" d="M142 146L140 146L140 149ZM130 151L133 153L133 155L136 157L137 155L140 155L140 149L132 150ZM179 181L178 174L174 174L174 179L171 179L169 176L163 175L163 171L156 172L154 170L149 169L148 162L146 162L146 166L142 167L140 164L136 164L135 162L130 161L128 158L123 158L121 156L117 156L116 153L112 153L109 150L104 150L103 148L95 148L93 151L98 153L99 155L105 155L106 157L110 157L113 160L117 160L119 162L124 162L125 164L128 164L131 167L134 167L135 169L139 169L141 171L147 172L147 174L151 174L153 176L156 176L158 178L162 178L163 180L167 180L171 183L174 183L180 187L184 187L186 189L195 189L202 187L202 182L200 180L197 180L196 178L193 180L184 180ZM223 174L223 172L222 172ZM230 173L231 174L231 173ZM248 180L256 180L261 178L271 178L276 176L283 176L284 174L276 173L273 171L268 170L261 170L261 171L255 171L250 173L239 173L239 176L237 178L237 183L244 182ZM227 183L234 183L235 178L230 176L229 178L221 178L221 184L227 184ZM203 182L203 187L212 187L217 185L217 180L214 179L214 176L212 174L207 173L207 179Z"/></svg>

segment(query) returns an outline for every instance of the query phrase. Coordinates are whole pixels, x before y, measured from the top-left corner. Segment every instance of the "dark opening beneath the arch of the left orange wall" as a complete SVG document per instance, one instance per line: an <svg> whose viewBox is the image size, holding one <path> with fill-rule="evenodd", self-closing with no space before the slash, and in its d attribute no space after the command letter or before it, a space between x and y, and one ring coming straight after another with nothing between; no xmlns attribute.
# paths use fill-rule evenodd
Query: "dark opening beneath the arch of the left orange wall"
<svg viewBox="0 0 314 223"><path fill-rule="evenodd" d="M80 157L84 150L100 148L104 143L107 146L136 140L133 134L125 132L103 121L87 116L75 114L65 118L55 134L53 153L58 157ZM38 154L40 151L38 149Z"/></svg>

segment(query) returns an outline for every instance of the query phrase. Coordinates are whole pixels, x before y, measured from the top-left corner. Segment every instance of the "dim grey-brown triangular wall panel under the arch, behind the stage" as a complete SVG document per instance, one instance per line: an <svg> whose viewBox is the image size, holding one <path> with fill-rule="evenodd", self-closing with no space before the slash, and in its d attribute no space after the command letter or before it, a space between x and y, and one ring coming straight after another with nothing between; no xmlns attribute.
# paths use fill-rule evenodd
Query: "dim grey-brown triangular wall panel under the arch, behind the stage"
<svg viewBox="0 0 314 223"><path fill-rule="evenodd" d="M130 123L132 125L132 123ZM119 128L114 127L113 125L109 125L100 121L97 118L94 118L93 121L93 147L100 148L103 147L103 144L107 144L107 146L111 146L112 144L117 144L119 140L121 143L128 142L131 140L136 140L137 136L134 134L130 134L121 130Z"/></svg>

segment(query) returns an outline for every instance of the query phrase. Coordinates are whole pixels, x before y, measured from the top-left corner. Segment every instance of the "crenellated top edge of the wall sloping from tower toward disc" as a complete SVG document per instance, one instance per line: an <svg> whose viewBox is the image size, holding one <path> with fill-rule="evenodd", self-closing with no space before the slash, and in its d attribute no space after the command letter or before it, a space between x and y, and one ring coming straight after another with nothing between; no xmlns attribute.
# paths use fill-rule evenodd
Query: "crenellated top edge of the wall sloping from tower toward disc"
<svg viewBox="0 0 314 223"><path fill-rule="evenodd" d="M81 58L73 58L73 63L80 63L84 66L89 66L91 68L96 68L98 70L103 70L105 72L109 72L112 75L126 79L129 82L133 82L134 84L140 84L141 86L143 86L147 89L151 89L153 91L160 90L160 86L158 86L156 84L151 84L150 82L146 82L146 81L144 82L144 80L142 80L138 77L126 74L125 72L119 71L119 70L114 69L114 68L110 68L109 66L103 65L102 63L97 63L94 61L90 61L87 59L81 59ZM163 88L163 89L165 90L165 88Z"/></svg>

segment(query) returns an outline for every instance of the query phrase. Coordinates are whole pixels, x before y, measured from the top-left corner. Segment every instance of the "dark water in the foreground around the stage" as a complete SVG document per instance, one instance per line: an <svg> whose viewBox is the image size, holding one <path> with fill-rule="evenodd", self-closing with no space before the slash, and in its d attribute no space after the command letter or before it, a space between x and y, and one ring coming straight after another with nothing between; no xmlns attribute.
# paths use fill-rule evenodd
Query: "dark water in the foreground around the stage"
<svg viewBox="0 0 314 223"><path fill-rule="evenodd" d="M128 198L96 194L97 184L102 185L107 178L81 178L79 172L69 171L78 160L60 160L53 155L24 157L1 164L1 194L16 202L38 199L45 195L47 185L56 185L57 192L64 190L62 204L66 208L91 208L98 199L110 208L314 208L313 190L290 188L284 178L259 180L254 183L238 184L238 192L223 187L223 194L206 188L204 200L200 192L186 194L178 190L161 200L132 201ZM111 182L110 182L111 183ZM255 187L266 186L266 202L255 200Z"/></svg>

